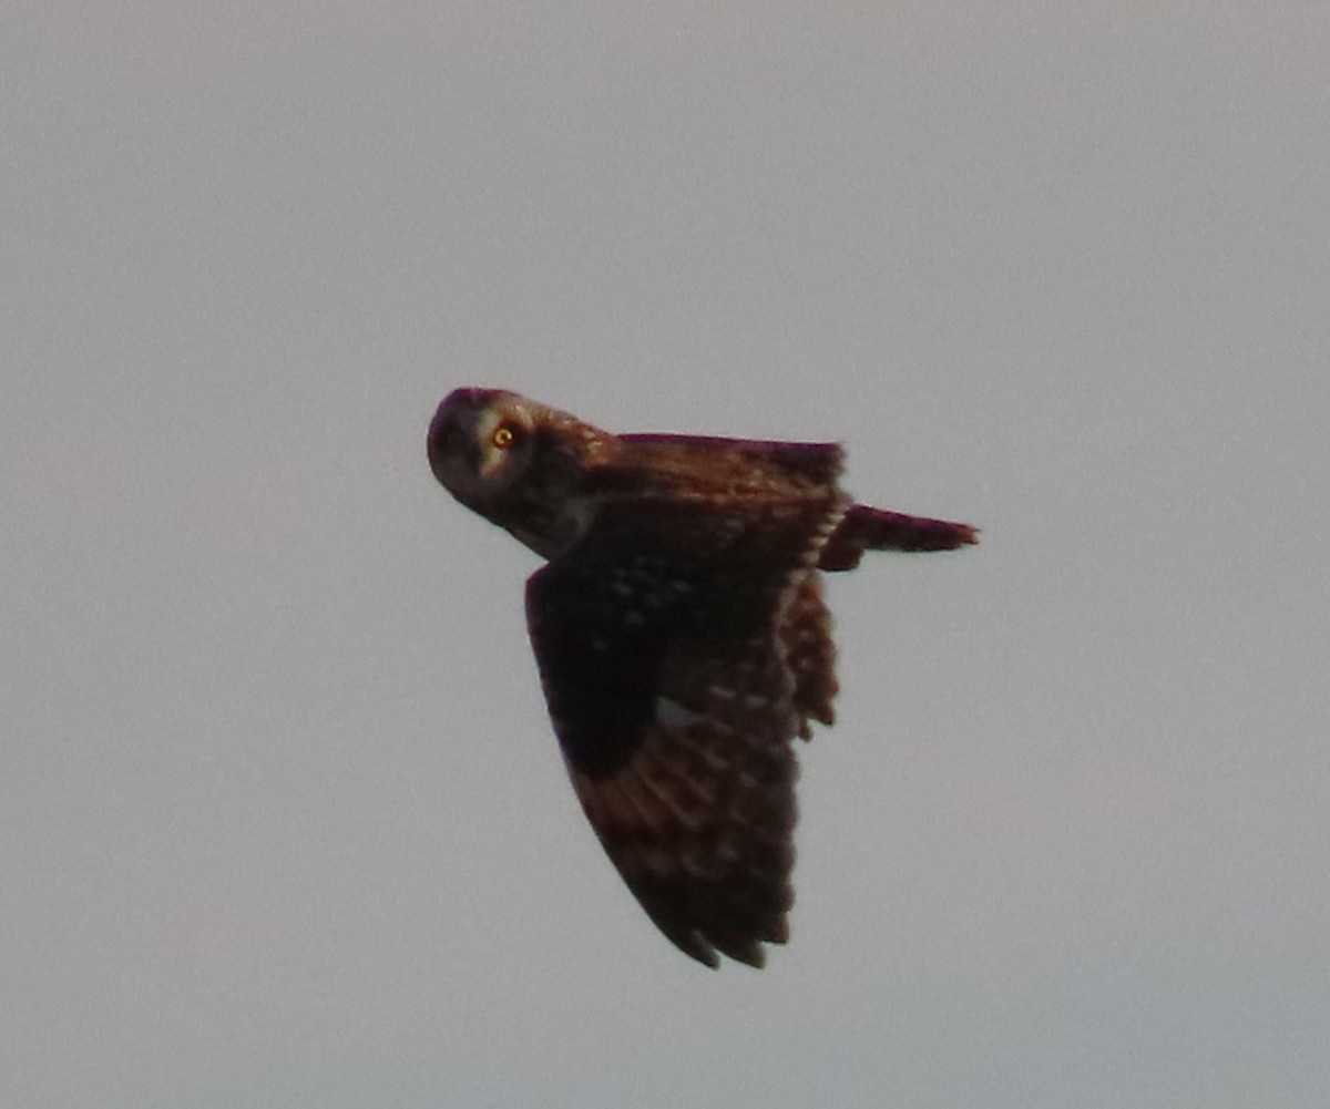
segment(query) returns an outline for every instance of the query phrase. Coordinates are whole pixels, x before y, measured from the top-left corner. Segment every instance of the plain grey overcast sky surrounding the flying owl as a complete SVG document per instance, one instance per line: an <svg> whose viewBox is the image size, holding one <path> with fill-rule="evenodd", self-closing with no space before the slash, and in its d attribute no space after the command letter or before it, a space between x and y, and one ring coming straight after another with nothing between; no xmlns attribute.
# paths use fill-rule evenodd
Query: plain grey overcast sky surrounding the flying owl
<svg viewBox="0 0 1330 1109"><path fill-rule="evenodd" d="M1330 1104L1330 8L11 3L0 1102ZM458 384L839 439L798 904L652 927Z"/></svg>

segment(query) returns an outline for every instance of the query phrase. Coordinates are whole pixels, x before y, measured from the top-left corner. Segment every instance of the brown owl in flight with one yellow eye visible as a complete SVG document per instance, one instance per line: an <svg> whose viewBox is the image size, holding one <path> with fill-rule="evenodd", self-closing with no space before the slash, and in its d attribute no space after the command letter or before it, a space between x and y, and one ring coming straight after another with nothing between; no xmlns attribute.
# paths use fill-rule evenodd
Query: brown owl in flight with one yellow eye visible
<svg viewBox="0 0 1330 1109"><path fill-rule="evenodd" d="M527 626L564 763L605 852L681 951L753 967L789 937L793 741L833 722L822 574L975 528L855 504L841 447L612 435L459 388L430 465L547 560Z"/></svg>

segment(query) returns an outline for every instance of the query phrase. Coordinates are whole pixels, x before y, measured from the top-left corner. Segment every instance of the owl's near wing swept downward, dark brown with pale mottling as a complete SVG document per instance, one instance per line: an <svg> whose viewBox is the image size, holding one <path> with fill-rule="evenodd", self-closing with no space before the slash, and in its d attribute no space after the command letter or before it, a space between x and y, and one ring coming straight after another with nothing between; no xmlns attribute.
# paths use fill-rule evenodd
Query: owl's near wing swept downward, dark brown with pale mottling
<svg viewBox="0 0 1330 1109"><path fill-rule="evenodd" d="M834 489L617 501L528 582L583 808L652 920L712 967L717 952L759 967L787 936L790 739L830 718L815 562L842 511Z"/></svg>

